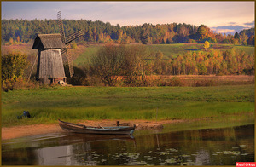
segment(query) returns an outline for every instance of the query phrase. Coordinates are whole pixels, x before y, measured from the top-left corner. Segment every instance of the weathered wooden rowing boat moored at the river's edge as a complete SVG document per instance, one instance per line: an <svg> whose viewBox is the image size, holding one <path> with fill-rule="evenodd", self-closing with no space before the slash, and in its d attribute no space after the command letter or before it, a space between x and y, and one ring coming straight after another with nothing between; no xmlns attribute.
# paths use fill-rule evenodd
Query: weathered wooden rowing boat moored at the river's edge
<svg viewBox="0 0 256 167"><path fill-rule="evenodd" d="M93 127L84 124L73 124L61 121L59 125L63 130L81 134L101 134L101 135L132 135L135 126L113 126L113 127Z"/></svg>

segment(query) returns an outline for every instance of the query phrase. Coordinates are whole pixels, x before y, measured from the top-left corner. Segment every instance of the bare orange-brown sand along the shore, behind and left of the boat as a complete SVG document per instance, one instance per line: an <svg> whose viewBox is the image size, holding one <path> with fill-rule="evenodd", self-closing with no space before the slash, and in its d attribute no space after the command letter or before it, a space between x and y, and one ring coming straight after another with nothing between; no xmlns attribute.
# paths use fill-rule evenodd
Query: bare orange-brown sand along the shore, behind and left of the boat
<svg viewBox="0 0 256 167"><path fill-rule="evenodd" d="M114 126L117 120L99 120L99 121L81 121L80 124L88 126ZM148 120L119 120L122 125L136 125L137 130L143 129L160 129L163 124L173 124L183 122L183 120L161 120L161 121L148 121ZM44 135L48 133L55 133L63 131L59 124L34 124L25 126L15 126L10 128L2 128L2 140L14 139L31 135Z"/></svg>

